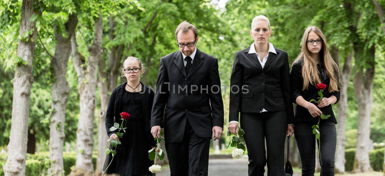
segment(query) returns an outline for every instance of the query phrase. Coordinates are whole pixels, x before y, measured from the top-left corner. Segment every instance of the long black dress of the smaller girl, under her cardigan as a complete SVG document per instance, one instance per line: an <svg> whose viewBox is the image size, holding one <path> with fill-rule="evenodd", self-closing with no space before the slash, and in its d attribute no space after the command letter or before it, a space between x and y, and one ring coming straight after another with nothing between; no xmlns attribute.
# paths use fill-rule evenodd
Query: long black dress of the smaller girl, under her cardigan
<svg viewBox="0 0 385 176"><path fill-rule="evenodd" d="M116 146L116 155L107 169L107 174L117 173L121 176L155 176L149 171L153 164L148 158L151 144L146 135L145 120L142 107L142 93L124 90L120 112L127 112L131 116L129 120L123 121L126 132L119 140L122 144ZM121 124L121 117L117 122ZM121 131L123 132L123 131ZM112 147L112 149L115 147ZM107 155L104 161L103 171L112 159L112 154Z"/></svg>

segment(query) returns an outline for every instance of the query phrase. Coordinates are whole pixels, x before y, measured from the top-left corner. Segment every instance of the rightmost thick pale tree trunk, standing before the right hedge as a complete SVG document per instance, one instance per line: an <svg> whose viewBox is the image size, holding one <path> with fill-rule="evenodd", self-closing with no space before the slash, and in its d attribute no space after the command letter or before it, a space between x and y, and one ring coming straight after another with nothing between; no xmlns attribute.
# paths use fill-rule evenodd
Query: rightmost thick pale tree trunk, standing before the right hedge
<svg viewBox="0 0 385 176"><path fill-rule="evenodd" d="M363 54L363 52L356 52L357 54ZM373 97L372 88L374 80L374 68L375 68L375 46L370 47L367 61L367 68L365 76L363 75L363 65L358 65L357 61L357 74L353 79L354 92L357 98L358 104L358 125L357 125L357 150L355 153L355 172L368 172L372 168L369 162L369 143L370 143L370 110L372 109Z"/></svg>

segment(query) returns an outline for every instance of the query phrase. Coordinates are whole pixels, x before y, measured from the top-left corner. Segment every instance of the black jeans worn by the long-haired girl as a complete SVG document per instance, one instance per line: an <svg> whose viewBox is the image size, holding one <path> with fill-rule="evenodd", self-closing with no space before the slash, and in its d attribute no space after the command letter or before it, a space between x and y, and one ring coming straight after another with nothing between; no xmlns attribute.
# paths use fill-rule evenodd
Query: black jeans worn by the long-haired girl
<svg viewBox="0 0 385 176"><path fill-rule="evenodd" d="M294 125L295 140L301 157L302 176L315 173L315 135L311 126L317 122L299 122ZM320 122L320 164L321 176L334 176L334 155L336 151L336 125L331 121ZM317 140L318 143L318 140Z"/></svg>

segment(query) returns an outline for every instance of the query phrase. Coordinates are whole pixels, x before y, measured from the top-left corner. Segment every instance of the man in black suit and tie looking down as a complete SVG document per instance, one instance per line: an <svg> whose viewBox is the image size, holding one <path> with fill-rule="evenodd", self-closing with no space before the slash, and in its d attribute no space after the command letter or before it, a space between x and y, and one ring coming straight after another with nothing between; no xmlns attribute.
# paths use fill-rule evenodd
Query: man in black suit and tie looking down
<svg viewBox="0 0 385 176"><path fill-rule="evenodd" d="M194 25L182 22L175 37L179 51L159 62L151 133L164 128L171 176L207 176L210 140L223 131L218 59L196 48Z"/></svg>

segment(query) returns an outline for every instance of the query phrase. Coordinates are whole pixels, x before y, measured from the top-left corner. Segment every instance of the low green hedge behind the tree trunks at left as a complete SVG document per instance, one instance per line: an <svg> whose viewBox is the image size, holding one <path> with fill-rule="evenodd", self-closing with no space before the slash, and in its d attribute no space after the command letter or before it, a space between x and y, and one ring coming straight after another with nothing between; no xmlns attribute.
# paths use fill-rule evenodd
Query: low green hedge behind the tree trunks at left
<svg viewBox="0 0 385 176"><path fill-rule="evenodd" d="M92 163L94 168L96 167L96 154L92 155ZM4 175L3 166L7 161L7 156L0 156L0 175ZM64 152L63 153L63 164L65 174L71 172L71 167L76 163L75 152ZM50 165L48 152L42 152L42 154L27 154L27 160L25 162L25 173L28 176L41 176L41 174L47 174Z"/></svg>

